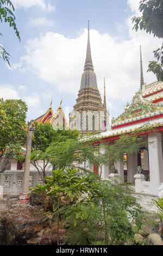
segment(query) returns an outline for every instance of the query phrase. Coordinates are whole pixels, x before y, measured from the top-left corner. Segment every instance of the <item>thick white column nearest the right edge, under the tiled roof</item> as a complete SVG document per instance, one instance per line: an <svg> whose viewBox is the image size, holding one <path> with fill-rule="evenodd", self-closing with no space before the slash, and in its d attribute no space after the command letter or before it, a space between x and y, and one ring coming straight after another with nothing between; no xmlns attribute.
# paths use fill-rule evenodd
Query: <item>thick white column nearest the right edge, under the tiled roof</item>
<svg viewBox="0 0 163 256"><path fill-rule="evenodd" d="M159 186L163 182L163 159L160 133L148 134L149 150L149 192L158 195ZM154 143L150 143L154 142Z"/></svg>

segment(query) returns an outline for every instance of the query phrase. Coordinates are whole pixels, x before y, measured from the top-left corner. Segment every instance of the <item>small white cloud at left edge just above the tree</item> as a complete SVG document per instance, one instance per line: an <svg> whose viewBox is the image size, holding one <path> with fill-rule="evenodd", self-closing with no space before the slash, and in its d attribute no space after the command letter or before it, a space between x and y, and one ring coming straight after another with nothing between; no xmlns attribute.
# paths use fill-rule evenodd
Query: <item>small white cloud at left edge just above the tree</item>
<svg viewBox="0 0 163 256"><path fill-rule="evenodd" d="M3 86L0 86L0 98L2 97L4 100L20 99L17 91L10 84L4 84Z"/></svg>

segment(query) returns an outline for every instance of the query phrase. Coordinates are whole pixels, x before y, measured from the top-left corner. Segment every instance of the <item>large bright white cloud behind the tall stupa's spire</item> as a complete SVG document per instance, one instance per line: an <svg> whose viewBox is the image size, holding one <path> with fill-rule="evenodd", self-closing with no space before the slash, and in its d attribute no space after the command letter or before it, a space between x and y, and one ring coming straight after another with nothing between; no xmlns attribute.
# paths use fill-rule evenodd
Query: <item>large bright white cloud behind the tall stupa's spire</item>
<svg viewBox="0 0 163 256"><path fill-rule="evenodd" d="M131 10L136 11L137 2L128 0ZM134 3L133 3L134 2ZM136 2L136 4L135 4ZM139 5L138 5L139 6ZM140 45L142 46L143 71L146 83L156 81L152 73L146 73L153 50L161 40L145 31L132 31L131 17L126 21L128 39L120 40L108 33L90 31L92 60L97 75L98 88L103 95L103 77L106 78L106 97L109 105L129 101L140 88ZM61 93L77 97L84 68L87 29L76 38L54 32L40 34L28 40L26 55L15 64L23 72L34 72ZM111 108L111 106L110 106Z"/></svg>

